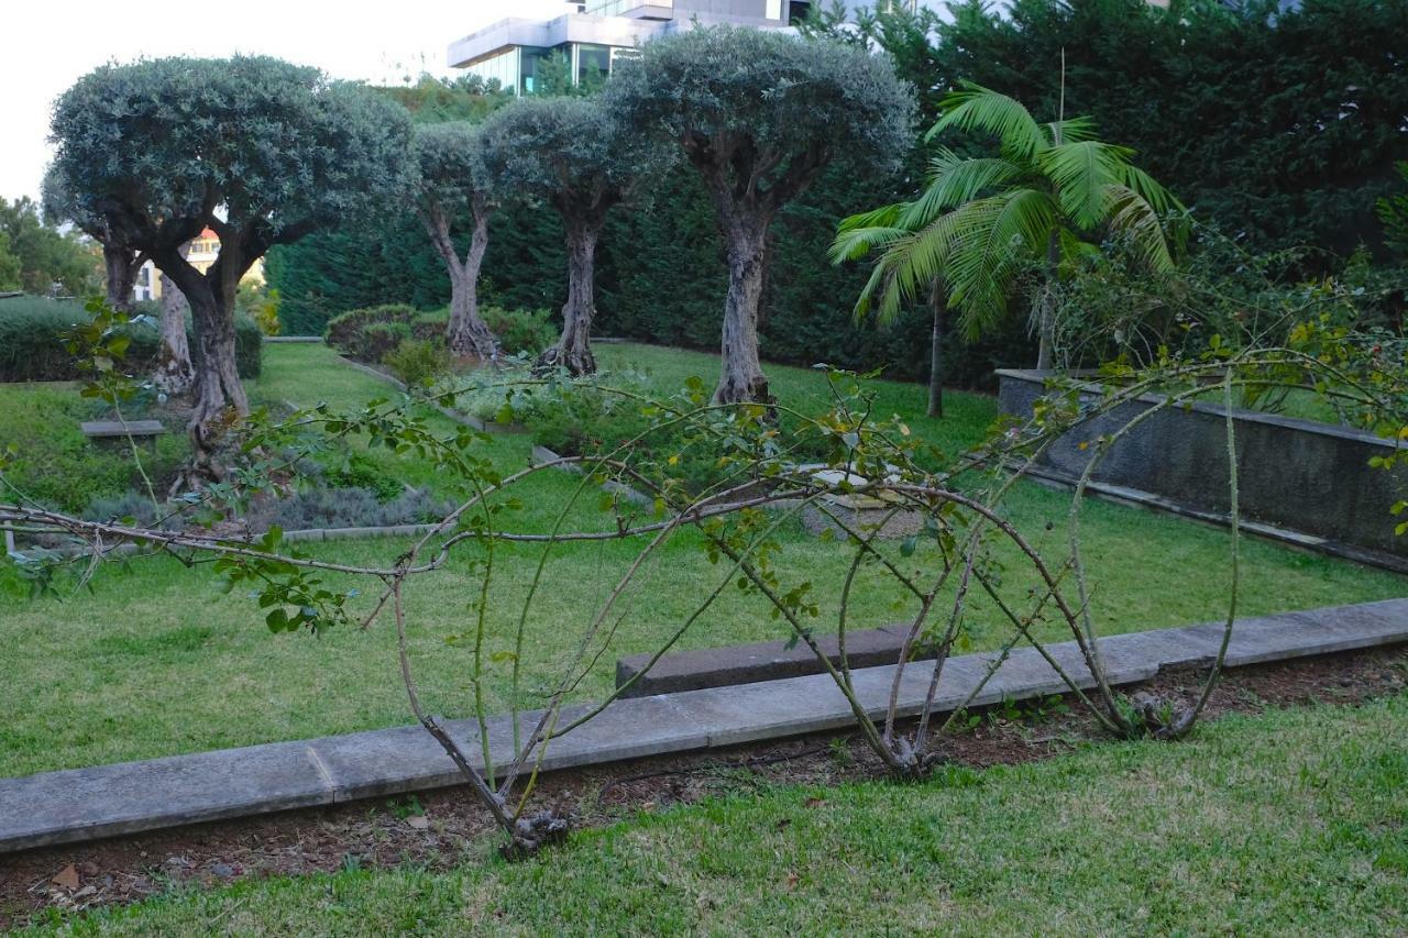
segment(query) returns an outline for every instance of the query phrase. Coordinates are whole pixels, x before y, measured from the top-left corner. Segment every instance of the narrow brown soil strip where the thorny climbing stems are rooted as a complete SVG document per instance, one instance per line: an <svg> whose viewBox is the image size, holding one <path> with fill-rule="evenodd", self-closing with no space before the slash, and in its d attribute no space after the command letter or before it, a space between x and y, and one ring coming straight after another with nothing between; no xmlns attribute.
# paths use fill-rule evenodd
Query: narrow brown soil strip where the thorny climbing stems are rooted
<svg viewBox="0 0 1408 938"><path fill-rule="evenodd" d="M1124 690L1191 703L1202 677L1198 670L1166 672ZM1402 646L1257 665L1225 675L1207 718L1311 701L1357 704L1405 686ZM962 725L936 746L946 759L974 768L1043 759L1102 738L1071 696L988 707L966 714ZM724 792L880 775L859 737L825 734L559 772L542 779L534 799L572 815L580 828ZM21 925L45 908L130 903L176 884L398 863L448 869L482 861L497 844L484 811L466 789L455 787L28 851L0 856L0 927Z"/></svg>

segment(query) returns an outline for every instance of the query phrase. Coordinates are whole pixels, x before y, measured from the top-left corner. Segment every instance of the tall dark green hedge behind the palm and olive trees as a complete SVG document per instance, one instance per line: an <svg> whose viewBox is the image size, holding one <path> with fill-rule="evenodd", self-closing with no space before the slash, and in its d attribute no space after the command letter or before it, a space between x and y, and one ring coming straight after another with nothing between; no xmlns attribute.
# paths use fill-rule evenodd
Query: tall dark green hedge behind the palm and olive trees
<svg viewBox="0 0 1408 938"><path fill-rule="evenodd" d="M1304 0L1280 10L1249 0L1015 0L960 4L952 21L869 18L831 35L874 41L917 87L921 121L959 79L1055 113L1066 51L1066 108L1090 114L1105 139L1138 159L1194 213L1250 249L1314 245L1333 269L1360 242L1381 249L1374 201L1408 159L1408 0ZM1286 4L1291 6L1291 4ZM987 7L987 8L986 8ZM957 144L959 141L948 141ZM763 355L849 368L926 373L928 318L912 311L891 330L855 327L860 265L835 269L825 249L835 221L910 197L926 154L881 182L865 173L818 182L773 225L772 275L760 311ZM484 263L486 303L556 310L565 299L562 232L555 213L500 213ZM279 249L272 286L289 315L321 317L403 301L436 308L448 287L414 220L389 220ZM612 220L598 252L597 332L717 348L727 289L722 239L698 182L686 170L660 180L648 210ZM291 297L291 299L290 299ZM946 344L955 383L983 384L994 365L1032 359L1025 314L977 346Z"/></svg>

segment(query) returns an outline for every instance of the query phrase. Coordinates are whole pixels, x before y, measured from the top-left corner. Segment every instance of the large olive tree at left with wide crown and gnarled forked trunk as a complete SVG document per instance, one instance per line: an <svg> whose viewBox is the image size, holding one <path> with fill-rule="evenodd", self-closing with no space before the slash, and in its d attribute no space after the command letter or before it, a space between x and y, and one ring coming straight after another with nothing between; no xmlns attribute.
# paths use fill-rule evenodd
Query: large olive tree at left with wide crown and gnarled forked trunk
<svg viewBox="0 0 1408 938"><path fill-rule="evenodd" d="M262 56L107 65L54 110L55 172L77 211L145 252L191 308L197 465L228 411L249 410L235 372L235 290L276 244L367 213L406 185L410 118L394 101ZM211 228L206 270L183 245ZM217 470L218 475L218 470Z"/></svg>

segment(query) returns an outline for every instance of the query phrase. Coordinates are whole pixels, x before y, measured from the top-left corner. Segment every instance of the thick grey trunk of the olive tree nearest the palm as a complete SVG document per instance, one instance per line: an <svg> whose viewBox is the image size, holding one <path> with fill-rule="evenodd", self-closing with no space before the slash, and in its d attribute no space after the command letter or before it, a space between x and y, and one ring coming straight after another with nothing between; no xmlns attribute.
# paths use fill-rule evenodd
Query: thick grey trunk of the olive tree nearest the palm
<svg viewBox="0 0 1408 938"><path fill-rule="evenodd" d="M773 403L767 377L758 359L758 307L767 269L766 218L741 218L725 224L728 237L728 300L724 304L722 373L714 401Z"/></svg>

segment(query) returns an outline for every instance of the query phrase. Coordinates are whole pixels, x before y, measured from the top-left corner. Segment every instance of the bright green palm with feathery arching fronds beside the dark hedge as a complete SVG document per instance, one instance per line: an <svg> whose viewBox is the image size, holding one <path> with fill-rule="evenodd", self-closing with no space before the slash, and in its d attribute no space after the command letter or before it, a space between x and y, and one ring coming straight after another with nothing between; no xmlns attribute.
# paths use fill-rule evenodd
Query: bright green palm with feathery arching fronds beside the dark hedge
<svg viewBox="0 0 1408 938"><path fill-rule="evenodd" d="M1133 151L1095 139L1090 118L1059 117L1038 124L1017 100L979 85L943 99L939 121L925 139L946 130L995 135L997 156L959 156L941 148L928 185L914 201L883 206L842 220L832 244L834 263L880 252L856 317L872 313L881 325L901 307L931 292L938 335L946 306L973 339L1007 315L1018 276L1036 268L1041 346L1036 366L1052 366L1055 286L1070 261L1098 252L1102 232L1129 239L1155 272L1173 268L1162 220L1183 206L1131 162ZM935 394L931 390L931 410Z"/></svg>

